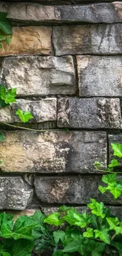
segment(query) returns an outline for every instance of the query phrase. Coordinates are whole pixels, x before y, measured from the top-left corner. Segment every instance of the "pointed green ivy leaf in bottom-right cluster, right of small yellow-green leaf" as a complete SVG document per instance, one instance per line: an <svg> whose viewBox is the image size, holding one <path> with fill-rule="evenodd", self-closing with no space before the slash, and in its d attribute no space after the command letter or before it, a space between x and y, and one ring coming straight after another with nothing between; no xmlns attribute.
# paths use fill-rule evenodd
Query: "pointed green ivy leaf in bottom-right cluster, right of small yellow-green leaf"
<svg viewBox="0 0 122 256"><path fill-rule="evenodd" d="M110 244L109 228L102 226L100 229L94 229L95 238L100 238L104 243Z"/></svg>

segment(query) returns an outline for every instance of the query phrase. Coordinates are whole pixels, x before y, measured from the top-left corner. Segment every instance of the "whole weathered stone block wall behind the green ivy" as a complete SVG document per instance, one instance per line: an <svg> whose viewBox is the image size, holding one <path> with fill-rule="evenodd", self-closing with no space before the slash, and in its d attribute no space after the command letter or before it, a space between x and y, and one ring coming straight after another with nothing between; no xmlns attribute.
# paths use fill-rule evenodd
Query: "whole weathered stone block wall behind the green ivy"
<svg viewBox="0 0 122 256"><path fill-rule="evenodd" d="M13 25L0 50L1 83L17 87L0 121L17 124L20 108L36 129L2 126L0 209L83 210L92 197L119 212L120 200L98 191L94 161L105 169L110 143L122 143L122 2L9 1L0 11Z"/></svg>

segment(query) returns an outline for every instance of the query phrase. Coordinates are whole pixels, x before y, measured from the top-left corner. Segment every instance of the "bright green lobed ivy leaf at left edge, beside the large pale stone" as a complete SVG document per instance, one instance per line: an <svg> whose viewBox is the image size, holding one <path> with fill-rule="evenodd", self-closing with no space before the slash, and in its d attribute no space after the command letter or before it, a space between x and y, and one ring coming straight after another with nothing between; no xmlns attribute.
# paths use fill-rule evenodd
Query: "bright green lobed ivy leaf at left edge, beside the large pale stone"
<svg viewBox="0 0 122 256"><path fill-rule="evenodd" d="M6 90L3 85L0 87L0 97L6 104L16 102L17 88Z"/></svg>

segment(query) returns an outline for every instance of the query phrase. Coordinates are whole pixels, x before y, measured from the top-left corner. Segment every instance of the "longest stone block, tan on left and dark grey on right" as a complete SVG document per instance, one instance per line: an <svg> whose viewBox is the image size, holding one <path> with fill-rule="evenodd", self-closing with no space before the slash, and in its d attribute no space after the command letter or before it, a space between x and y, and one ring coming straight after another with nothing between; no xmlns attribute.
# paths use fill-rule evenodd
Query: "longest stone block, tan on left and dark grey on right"
<svg viewBox="0 0 122 256"><path fill-rule="evenodd" d="M105 132L4 132L1 169L22 173L96 173L106 168ZM14 156L14 157L13 157Z"/></svg>

